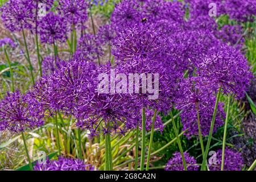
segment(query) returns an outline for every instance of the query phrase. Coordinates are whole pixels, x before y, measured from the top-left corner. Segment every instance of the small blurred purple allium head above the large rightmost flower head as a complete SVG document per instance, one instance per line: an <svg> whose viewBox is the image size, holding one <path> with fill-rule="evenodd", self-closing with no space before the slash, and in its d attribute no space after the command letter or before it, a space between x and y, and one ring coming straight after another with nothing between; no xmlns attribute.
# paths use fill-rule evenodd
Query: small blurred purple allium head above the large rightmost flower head
<svg viewBox="0 0 256 182"><path fill-rule="evenodd" d="M221 39L224 43L228 43L230 46L235 46L238 40L241 39L243 34L242 27L239 25L230 26L225 25L217 33L217 38ZM240 50L243 46L245 39L242 38L240 42L236 45L236 49Z"/></svg>

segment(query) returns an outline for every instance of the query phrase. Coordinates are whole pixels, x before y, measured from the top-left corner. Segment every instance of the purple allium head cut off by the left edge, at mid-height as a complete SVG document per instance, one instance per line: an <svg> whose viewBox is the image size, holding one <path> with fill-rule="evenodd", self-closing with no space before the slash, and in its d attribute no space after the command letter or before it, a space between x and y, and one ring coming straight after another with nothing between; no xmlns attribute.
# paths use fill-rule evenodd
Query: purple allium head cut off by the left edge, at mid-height
<svg viewBox="0 0 256 182"><path fill-rule="evenodd" d="M43 125L44 111L39 102L23 96L19 91L7 93L0 101L0 130L20 133Z"/></svg>

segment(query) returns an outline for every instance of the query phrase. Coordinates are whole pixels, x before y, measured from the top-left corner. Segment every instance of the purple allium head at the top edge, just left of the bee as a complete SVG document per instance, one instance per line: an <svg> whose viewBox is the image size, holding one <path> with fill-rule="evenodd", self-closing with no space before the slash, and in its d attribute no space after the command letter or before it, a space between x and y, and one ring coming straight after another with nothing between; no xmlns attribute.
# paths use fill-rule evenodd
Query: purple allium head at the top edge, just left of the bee
<svg viewBox="0 0 256 182"><path fill-rule="evenodd" d="M139 12L139 3L135 0L125 0L115 6L110 21L117 30L123 30L134 23L141 22L142 14Z"/></svg>

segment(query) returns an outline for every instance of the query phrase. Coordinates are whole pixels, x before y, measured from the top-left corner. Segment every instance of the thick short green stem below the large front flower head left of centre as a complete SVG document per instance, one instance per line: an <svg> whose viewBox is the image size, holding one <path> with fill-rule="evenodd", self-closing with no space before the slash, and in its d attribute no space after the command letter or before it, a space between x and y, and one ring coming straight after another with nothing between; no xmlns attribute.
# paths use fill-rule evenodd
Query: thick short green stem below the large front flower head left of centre
<svg viewBox="0 0 256 182"><path fill-rule="evenodd" d="M105 169L106 171L112 171L113 170L112 149L111 149L111 139L110 139L109 133L105 135L105 146L106 146Z"/></svg>

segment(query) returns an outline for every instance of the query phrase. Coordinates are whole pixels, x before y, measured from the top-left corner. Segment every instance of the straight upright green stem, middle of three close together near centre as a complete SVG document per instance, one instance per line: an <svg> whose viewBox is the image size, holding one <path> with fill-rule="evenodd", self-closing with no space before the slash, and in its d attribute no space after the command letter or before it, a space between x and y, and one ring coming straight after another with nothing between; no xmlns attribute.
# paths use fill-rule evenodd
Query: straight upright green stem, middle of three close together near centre
<svg viewBox="0 0 256 182"><path fill-rule="evenodd" d="M144 171L145 152L146 152L146 114L142 108L142 144L141 144L141 171Z"/></svg>

